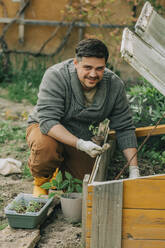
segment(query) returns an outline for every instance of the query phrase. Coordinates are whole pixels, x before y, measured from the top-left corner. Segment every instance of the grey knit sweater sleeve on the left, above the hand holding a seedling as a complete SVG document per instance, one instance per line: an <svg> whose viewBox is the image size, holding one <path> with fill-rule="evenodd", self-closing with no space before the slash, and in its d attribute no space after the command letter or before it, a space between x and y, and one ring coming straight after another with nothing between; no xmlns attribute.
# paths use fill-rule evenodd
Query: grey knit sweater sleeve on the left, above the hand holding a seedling
<svg viewBox="0 0 165 248"><path fill-rule="evenodd" d="M37 101L39 125L43 134L60 123L64 116L64 102L64 78L57 70L50 68L42 79Z"/></svg>

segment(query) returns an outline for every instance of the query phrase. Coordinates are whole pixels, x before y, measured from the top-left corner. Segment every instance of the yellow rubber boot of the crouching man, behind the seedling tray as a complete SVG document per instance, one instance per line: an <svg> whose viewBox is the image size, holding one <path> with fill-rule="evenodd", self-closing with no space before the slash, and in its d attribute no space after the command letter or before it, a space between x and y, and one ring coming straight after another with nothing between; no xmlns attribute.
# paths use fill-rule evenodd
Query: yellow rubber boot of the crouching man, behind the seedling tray
<svg viewBox="0 0 165 248"><path fill-rule="evenodd" d="M34 178L34 188L33 188L33 195L34 196L41 196L41 195L48 195L47 189L42 189L40 186L44 183L49 182L50 177L35 177Z"/></svg>

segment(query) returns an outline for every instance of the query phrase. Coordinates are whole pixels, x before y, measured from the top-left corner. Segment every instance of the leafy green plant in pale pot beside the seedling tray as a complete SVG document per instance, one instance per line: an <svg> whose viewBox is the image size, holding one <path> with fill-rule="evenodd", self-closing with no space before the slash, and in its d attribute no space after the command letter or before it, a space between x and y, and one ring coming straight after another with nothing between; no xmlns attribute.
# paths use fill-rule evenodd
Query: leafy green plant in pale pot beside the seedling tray
<svg viewBox="0 0 165 248"><path fill-rule="evenodd" d="M82 215L82 181L74 178L70 173L65 172L63 179L61 171L58 172L56 179L42 185L44 189L55 188L49 197L60 196L61 208L64 217L69 222L80 222Z"/></svg>

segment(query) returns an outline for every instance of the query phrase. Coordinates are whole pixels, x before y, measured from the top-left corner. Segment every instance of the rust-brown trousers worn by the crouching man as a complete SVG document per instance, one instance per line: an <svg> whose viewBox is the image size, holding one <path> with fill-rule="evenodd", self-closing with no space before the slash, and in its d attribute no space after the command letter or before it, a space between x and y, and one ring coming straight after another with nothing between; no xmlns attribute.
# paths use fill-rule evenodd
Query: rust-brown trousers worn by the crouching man
<svg viewBox="0 0 165 248"><path fill-rule="evenodd" d="M27 128L26 139L31 151L28 166L33 177L52 176L57 167L79 179L83 179L85 174L91 174L95 159L42 134L39 124Z"/></svg>

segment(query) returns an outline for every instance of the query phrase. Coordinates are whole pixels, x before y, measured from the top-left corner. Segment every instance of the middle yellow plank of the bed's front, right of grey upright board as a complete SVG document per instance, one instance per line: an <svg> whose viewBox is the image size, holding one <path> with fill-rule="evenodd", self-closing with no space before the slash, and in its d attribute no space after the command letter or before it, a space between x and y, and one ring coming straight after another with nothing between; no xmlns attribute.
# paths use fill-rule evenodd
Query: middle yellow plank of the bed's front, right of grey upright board
<svg viewBox="0 0 165 248"><path fill-rule="evenodd" d="M123 209L124 239L165 239L165 209Z"/></svg>

